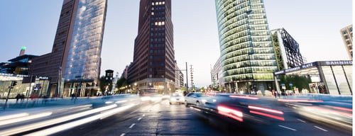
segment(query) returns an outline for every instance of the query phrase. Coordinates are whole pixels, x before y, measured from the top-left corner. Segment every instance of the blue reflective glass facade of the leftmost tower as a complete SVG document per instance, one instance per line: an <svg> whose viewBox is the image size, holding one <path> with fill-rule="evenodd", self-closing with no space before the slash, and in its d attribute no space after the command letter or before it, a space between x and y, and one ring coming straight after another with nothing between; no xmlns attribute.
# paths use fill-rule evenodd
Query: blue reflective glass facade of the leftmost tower
<svg viewBox="0 0 355 136"><path fill-rule="evenodd" d="M96 81L100 73L106 0L78 1L64 77Z"/></svg>

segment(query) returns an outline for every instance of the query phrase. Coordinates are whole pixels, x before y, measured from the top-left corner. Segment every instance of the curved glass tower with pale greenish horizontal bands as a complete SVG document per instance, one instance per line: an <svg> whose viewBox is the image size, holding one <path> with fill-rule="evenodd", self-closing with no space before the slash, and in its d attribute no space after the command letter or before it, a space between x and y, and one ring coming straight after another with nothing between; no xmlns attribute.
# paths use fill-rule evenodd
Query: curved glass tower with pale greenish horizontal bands
<svg viewBox="0 0 355 136"><path fill-rule="evenodd" d="M215 0L226 91L273 89L277 68L262 0Z"/></svg>

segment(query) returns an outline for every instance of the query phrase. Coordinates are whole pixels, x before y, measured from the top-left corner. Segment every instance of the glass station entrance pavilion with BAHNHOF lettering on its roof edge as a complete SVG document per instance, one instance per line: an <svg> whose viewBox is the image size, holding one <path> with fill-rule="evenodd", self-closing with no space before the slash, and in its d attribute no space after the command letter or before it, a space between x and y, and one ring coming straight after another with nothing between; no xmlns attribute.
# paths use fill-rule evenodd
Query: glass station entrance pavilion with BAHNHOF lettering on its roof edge
<svg viewBox="0 0 355 136"><path fill-rule="evenodd" d="M307 75L315 84L316 94L352 95L352 64L351 60L312 62L274 72L274 75Z"/></svg>

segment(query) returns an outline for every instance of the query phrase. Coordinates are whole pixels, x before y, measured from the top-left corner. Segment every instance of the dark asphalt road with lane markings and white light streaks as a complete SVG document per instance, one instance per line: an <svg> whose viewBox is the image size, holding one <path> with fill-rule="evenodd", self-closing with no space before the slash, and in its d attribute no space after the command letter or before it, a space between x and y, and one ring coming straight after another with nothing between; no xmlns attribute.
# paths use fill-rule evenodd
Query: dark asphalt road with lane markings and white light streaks
<svg viewBox="0 0 355 136"><path fill-rule="evenodd" d="M62 108L45 118L0 125L0 128L18 128L15 130L18 133L11 135L352 135L322 123L312 123L280 105L285 120L271 120L265 125L238 123L194 106L170 105L168 100L118 102ZM46 125L34 128L36 123ZM24 128L30 129L21 132Z"/></svg>

